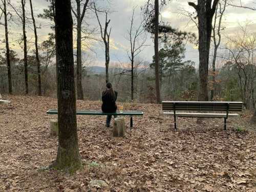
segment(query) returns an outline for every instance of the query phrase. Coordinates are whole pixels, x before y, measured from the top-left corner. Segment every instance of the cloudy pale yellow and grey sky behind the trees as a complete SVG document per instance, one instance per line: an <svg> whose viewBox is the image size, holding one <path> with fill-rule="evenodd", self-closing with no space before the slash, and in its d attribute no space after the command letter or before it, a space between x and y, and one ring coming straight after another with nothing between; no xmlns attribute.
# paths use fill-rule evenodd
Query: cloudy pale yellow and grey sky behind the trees
<svg viewBox="0 0 256 192"><path fill-rule="evenodd" d="M109 16L111 19L110 27L112 28L111 35L110 35L110 59L112 62L122 62L125 63L129 60L127 57L127 50L130 49L129 41L125 38L127 36L127 30L130 28L131 25L131 16L132 10L135 7L135 18L134 18L134 26L137 27L141 23L142 14L141 14L141 6L145 4L145 0L96 0L97 6L101 8L109 8L112 12ZM198 34L197 27L193 22L189 22L189 18L180 14L182 10L187 11L194 11L193 8L189 7L187 4L188 1L179 0L179 1L171 1L168 3L167 6L161 8L161 16L160 18L164 22L168 22L172 27L179 28L183 31L187 32L194 32ZM194 1L196 3L196 1ZM239 5L238 0L233 0L233 4ZM243 5L256 7L255 2L252 0L243 0ZM11 0L11 3L18 7L20 1ZM33 7L34 7L34 14L42 13L43 9L46 9L49 3L45 0L33 0ZM10 10L11 11L11 10ZM29 1L27 0L27 12L30 13L29 9ZM15 17L13 17L15 18ZM98 28L98 23L95 15L93 13L87 15L85 18L85 22L87 22L91 28L95 27ZM103 17L100 15L100 19L103 22ZM234 7L227 7L226 12L223 18L223 26L225 26L225 30L223 33L223 41L225 41L225 36L235 35L239 31L239 25L248 24L248 31L255 31L256 29L256 11L252 11L249 9L243 8L234 8ZM1 19L3 22L3 18ZM52 32L50 29L50 21L36 18L37 26L40 28L38 29L38 40L42 42L48 38L48 33ZM4 40L4 26L0 26L0 39L1 41ZM20 25L17 21L12 22L9 26L9 41L11 49L14 49L20 56L22 56L22 49L18 44L18 39L22 36L22 25ZM95 36L99 36L99 31L96 32ZM74 31L74 40L76 38ZM143 60L152 61L152 56L154 55L154 42L151 34L146 34L147 40L146 45L143 51L140 53L139 57ZM30 24L30 27L27 28L27 37L28 41L33 42L33 29ZM91 50L88 49L87 46L83 46L82 50L84 53L89 55L93 60L93 66L104 66L104 48L102 42L98 41L86 41L83 42L84 45L90 45ZM33 48L33 43L29 44L30 51ZM74 41L75 47L75 41ZM4 48L4 44L2 43L1 48ZM192 60L196 62L198 65L198 49L195 45L186 44L186 53L185 53L185 60Z"/></svg>

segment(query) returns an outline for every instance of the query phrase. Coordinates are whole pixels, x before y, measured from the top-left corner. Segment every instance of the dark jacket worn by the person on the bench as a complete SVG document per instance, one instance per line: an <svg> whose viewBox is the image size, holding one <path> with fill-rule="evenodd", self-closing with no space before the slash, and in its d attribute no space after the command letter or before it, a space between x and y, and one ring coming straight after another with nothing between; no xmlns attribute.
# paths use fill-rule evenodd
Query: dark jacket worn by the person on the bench
<svg viewBox="0 0 256 192"><path fill-rule="evenodd" d="M115 112L117 109L116 106L116 98L117 98L117 92L115 91L115 98L110 93L110 90L105 90L102 92L102 105L101 110L104 113L111 113Z"/></svg>

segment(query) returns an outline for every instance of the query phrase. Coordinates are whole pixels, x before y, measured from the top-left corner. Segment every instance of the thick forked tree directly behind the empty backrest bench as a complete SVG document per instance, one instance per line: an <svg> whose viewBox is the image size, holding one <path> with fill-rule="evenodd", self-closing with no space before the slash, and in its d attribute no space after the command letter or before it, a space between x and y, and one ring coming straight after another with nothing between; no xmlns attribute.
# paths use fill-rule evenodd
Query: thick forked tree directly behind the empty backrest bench
<svg viewBox="0 0 256 192"><path fill-rule="evenodd" d="M196 5L188 2L197 12L199 33L199 101L208 101L208 66L212 18L214 17L219 0L198 0Z"/></svg>

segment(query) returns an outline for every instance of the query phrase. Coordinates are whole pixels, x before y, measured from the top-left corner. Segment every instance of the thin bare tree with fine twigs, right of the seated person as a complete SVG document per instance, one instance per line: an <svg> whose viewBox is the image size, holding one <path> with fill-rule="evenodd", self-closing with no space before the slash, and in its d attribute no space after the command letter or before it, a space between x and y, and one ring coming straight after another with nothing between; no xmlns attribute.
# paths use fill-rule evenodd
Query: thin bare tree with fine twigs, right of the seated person
<svg viewBox="0 0 256 192"><path fill-rule="evenodd" d="M131 46L130 52L127 53L131 61L131 100L134 99L134 59L140 54L146 42L143 23L140 22L138 28L134 29L134 11L135 8L133 8L130 30L127 31L127 40L129 40Z"/></svg>

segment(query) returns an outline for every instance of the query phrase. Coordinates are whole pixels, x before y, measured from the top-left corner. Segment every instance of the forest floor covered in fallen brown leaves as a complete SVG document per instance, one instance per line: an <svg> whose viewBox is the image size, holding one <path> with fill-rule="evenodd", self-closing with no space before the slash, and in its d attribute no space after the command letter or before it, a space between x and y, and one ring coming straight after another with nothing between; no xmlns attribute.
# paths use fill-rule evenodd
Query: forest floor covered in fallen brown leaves
<svg viewBox="0 0 256 192"><path fill-rule="evenodd" d="M250 114L228 119L173 118L156 104L124 103L140 110L125 138L112 136L104 116L77 116L83 168L73 175L47 169L58 139L49 137L47 97L10 96L0 105L0 191L88 191L93 179L102 191L256 191L256 128ZM99 101L77 101L78 109L100 110ZM129 118L126 119L127 126ZM100 191L99 189L98 191Z"/></svg>

